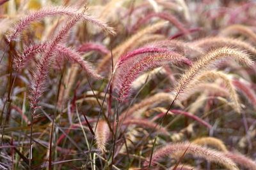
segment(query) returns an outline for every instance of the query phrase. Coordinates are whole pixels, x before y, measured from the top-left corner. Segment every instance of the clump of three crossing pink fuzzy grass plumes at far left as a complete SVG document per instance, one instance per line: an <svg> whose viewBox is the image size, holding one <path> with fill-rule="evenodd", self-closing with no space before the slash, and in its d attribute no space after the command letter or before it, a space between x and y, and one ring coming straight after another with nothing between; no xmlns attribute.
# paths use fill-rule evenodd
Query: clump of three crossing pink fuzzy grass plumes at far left
<svg viewBox="0 0 256 170"><path fill-rule="evenodd" d="M66 11L66 10L64 10L64 11ZM10 38L8 38L8 41L11 42L19 34L19 32L21 32L22 30L24 30L26 28L26 26L30 22L38 20L47 15L57 15L58 14L58 13L54 13L54 12L56 12L56 11L55 10L46 10L46 11L42 10L40 12L32 13L31 15L29 15L29 17L22 19L20 21L20 23L17 25L15 31L13 31L13 33L10 35ZM68 12L68 10L67 10L67 12ZM84 69L86 69L87 72L88 71L90 72L90 69L88 68L86 62L83 61L83 59L81 59L81 57L79 57L79 55L76 55L75 52L72 52L72 50L68 50L67 48L65 48L63 46L58 46L61 43L61 40L63 38L65 38L67 33L70 31L70 29L82 18L84 18L86 20L90 20L94 24L102 25L99 21L95 20L94 18L84 17L85 12L86 12L86 8L82 12L76 12L75 13L76 15L74 15L74 17L72 17L70 19L70 21L67 23L67 25L65 25L60 30L60 32L58 32L58 34L52 39L52 41L50 41L49 45L45 46L42 57L40 57L40 61L36 65L36 69L33 72L33 79L31 82L31 96L29 97L30 103L31 103L31 117L32 117L29 160L31 160L31 156L32 156L31 141L32 141L32 131L33 131L33 119L36 117L36 110L38 110L38 108L39 108L39 106L37 104L39 102L40 97L42 96L42 93L44 92L45 79L46 79L47 72L49 69L49 64L51 64L51 62L53 60L54 51L57 49L61 50L61 52L65 53L65 55L69 56L70 59L75 60L76 62L79 62L80 64L83 63L83 64L81 64L81 66ZM104 26L104 27L106 28L106 26ZM44 47L44 45L37 46L37 47L38 48ZM33 50L32 52L35 52L38 48L32 48L30 50ZM37 52L40 52L40 50L37 50ZM24 56L24 57L28 57L29 52L26 52L25 54L27 54L27 56ZM26 61L26 58L24 58L24 57L22 59ZM22 60L20 60L20 63L22 64ZM20 65L20 63L18 64L18 66ZM89 74L94 74L94 73L93 73L93 71L91 71L91 73L89 73ZM94 75L97 75L97 74L94 74ZM98 78L99 78L99 76L98 76ZM30 164L31 164L31 162L29 161L29 166L30 166Z"/></svg>

